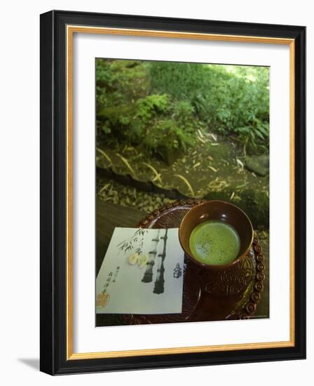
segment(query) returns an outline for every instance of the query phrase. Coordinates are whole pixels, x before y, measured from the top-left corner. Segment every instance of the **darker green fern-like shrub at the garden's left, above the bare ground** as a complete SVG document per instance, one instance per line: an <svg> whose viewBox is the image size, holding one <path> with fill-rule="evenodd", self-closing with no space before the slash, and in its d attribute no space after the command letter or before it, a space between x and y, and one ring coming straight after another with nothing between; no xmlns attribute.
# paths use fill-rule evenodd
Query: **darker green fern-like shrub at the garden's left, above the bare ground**
<svg viewBox="0 0 314 386"><path fill-rule="evenodd" d="M168 95L154 94L132 105L102 109L98 119L104 134L140 145L148 154L158 154L165 147L183 153L191 144L184 125L189 123L192 112L189 104L172 104ZM177 119L169 119L169 114Z"/></svg>

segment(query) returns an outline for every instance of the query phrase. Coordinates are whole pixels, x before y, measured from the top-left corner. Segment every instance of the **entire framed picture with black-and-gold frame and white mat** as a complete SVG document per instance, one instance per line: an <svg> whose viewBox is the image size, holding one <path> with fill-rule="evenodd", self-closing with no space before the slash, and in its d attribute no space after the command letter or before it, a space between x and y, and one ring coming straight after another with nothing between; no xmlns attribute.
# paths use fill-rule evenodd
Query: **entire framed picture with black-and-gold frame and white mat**
<svg viewBox="0 0 314 386"><path fill-rule="evenodd" d="M305 39L41 15L41 371L306 357Z"/></svg>

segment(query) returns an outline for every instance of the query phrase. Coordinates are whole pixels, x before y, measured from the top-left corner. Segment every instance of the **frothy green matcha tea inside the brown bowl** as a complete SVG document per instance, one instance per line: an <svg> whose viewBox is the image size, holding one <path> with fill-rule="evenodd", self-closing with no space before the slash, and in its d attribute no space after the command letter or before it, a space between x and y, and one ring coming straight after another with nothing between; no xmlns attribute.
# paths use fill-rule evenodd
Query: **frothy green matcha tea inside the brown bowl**
<svg viewBox="0 0 314 386"><path fill-rule="evenodd" d="M196 260L209 265L224 265L237 258L240 237L232 225L208 220L193 229L189 246Z"/></svg>

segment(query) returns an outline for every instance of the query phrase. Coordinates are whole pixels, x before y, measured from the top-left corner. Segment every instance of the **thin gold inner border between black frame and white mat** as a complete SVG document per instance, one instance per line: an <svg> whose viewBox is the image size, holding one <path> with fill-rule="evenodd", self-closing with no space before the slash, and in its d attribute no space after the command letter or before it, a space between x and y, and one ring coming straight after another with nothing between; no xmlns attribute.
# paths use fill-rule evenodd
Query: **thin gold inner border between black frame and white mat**
<svg viewBox="0 0 314 386"><path fill-rule="evenodd" d="M289 211L290 211L290 245L289 245L289 321L290 338L281 342L239 343L233 345L211 345L191 347L170 347L149 350L125 350L108 352L73 352L73 39L74 33L114 34L124 36L164 37L176 39L200 39L211 41L229 41L259 44L289 45ZM294 130L295 130L295 42L294 39L274 38L267 36L242 36L225 34L204 34L194 32L158 31L149 29L125 29L111 27L87 27L83 25L67 25L67 360L101 359L117 357L138 357L146 355L183 354L196 352L221 352L232 350L256 350L275 347L294 347Z"/></svg>

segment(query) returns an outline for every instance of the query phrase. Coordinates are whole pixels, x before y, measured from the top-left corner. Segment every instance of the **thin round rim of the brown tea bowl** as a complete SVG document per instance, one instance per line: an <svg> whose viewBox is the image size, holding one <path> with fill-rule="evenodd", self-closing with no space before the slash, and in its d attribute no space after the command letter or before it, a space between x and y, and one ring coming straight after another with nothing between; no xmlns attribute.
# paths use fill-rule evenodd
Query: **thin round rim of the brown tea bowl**
<svg viewBox="0 0 314 386"><path fill-rule="evenodd" d="M189 253L188 251L186 251L186 248L184 247L184 242L182 241L182 236L181 236L181 231L182 231L182 224L184 223L184 219L186 218L187 215L189 215L189 213L193 210L195 210L196 208L199 208L200 206L206 206L208 205L208 203L219 203L219 204L226 204L227 206L233 206L233 208L235 208L236 210L240 211L241 213L243 213L243 215L245 216L245 218L247 219L247 222L248 224L250 225L250 230L251 230L251 233L252 233L252 237L251 237L251 241L250 243L248 244L247 248L245 249L245 251L240 255L238 256L237 258L235 258L235 260L231 261L231 262L228 262L227 264L223 264L223 265L210 265L210 264L205 264L203 262L200 262L199 260L197 260L196 258L193 257L193 255L191 253ZM227 202L227 201L222 201L222 200L207 200L205 202L202 202L200 204L197 204L196 206L192 206L189 211L184 215L184 217L182 218L181 222L180 222L180 225L179 225L179 241L180 241L180 244L182 246L182 249L184 251L184 253L193 261L195 262L197 265L199 265L200 267L203 267L203 268L207 268L207 269L226 269L226 268L230 268L232 267L233 265L237 264L240 260L242 260L243 258L245 258L245 256L247 256L247 254L250 252L250 249L252 248L252 244L253 244L253 239L254 239L254 228L253 228L253 225L252 225L252 222L250 220L250 218L248 217L248 215L242 210L240 209L238 206L234 205L234 204L231 204L230 202Z"/></svg>

